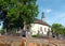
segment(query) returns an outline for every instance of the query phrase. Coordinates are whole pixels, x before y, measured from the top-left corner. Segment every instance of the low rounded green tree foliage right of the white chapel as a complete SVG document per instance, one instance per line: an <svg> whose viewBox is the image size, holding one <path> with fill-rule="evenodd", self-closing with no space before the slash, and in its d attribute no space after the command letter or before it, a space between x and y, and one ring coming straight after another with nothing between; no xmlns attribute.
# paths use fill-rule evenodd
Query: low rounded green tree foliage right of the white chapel
<svg viewBox="0 0 65 46"><path fill-rule="evenodd" d="M65 33L65 27L63 27L61 24L53 24L51 29L52 32L55 32L57 35Z"/></svg>

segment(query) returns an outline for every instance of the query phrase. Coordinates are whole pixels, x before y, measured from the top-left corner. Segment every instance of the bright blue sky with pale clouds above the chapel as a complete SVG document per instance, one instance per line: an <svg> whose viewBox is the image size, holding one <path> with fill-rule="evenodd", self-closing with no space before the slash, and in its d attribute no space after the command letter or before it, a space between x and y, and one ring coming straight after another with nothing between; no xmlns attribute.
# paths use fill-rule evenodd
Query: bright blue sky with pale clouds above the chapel
<svg viewBox="0 0 65 46"><path fill-rule="evenodd" d="M39 5L39 15L44 12L46 21L50 25L62 24L65 26L65 0L37 0Z"/></svg>

